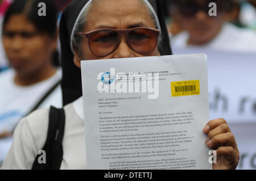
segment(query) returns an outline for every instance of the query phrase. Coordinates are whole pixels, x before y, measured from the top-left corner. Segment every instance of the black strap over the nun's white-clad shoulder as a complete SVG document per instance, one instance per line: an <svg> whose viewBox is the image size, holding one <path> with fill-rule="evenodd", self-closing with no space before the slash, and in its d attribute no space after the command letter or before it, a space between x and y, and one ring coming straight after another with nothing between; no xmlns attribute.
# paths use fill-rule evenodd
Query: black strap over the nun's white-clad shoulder
<svg viewBox="0 0 256 181"><path fill-rule="evenodd" d="M46 144L42 150L46 151L46 163L39 163L38 154L32 166L32 170L58 170L63 159L62 140L65 128L65 112L64 109L50 108L49 126L47 132Z"/></svg>

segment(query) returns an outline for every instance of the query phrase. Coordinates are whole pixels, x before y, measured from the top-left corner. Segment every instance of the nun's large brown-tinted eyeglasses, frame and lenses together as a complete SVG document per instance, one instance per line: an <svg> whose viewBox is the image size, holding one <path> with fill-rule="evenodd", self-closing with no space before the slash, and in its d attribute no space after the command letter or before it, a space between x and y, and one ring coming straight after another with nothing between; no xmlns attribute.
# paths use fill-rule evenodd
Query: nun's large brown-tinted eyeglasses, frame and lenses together
<svg viewBox="0 0 256 181"><path fill-rule="evenodd" d="M125 35L126 44L142 55L152 53L158 43L160 31L154 28L137 27L130 29L103 28L78 35L88 38L90 51L99 57L113 53L121 43L121 36Z"/></svg>

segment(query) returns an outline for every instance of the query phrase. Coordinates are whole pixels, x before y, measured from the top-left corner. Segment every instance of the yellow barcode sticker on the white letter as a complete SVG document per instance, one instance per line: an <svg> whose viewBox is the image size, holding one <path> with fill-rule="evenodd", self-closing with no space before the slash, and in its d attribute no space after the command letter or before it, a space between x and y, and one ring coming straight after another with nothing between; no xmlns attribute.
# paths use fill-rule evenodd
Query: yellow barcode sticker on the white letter
<svg viewBox="0 0 256 181"><path fill-rule="evenodd" d="M199 80L171 82L171 94L172 97L200 95L200 82Z"/></svg>

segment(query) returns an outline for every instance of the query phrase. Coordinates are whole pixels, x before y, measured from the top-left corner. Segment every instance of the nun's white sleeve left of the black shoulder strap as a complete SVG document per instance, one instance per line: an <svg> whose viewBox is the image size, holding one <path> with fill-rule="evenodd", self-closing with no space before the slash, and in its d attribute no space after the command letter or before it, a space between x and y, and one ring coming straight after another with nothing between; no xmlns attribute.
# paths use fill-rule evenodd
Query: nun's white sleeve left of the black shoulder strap
<svg viewBox="0 0 256 181"><path fill-rule="evenodd" d="M48 130L48 110L36 110L19 121L13 144L1 169L31 169L38 151L43 149Z"/></svg>

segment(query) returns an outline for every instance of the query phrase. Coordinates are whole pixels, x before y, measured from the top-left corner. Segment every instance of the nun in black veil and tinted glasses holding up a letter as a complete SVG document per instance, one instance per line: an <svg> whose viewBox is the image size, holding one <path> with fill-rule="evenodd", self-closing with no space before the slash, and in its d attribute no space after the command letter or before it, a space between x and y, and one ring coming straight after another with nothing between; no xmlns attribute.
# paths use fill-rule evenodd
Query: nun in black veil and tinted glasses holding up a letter
<svg viewBox="0 0 256 181"><path fill-rule="evenodd" d="M159 8L158 1L75 0L65 9L60 22L65 126L61 121L57 123L60 132L55 140L61 146L47 153L54 159L49 159L52 163L48 169L86 169L80 60L171 54ZM36 155L44 145L47 147L47 129L51 125L48 117L49 110L38 110L20 121L2 169L37 168ZM225 120L209 121L202 131L208 134L209 148L217 150L213 168L235 169L239 153Z"/></svg>

